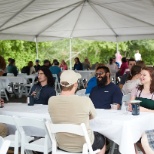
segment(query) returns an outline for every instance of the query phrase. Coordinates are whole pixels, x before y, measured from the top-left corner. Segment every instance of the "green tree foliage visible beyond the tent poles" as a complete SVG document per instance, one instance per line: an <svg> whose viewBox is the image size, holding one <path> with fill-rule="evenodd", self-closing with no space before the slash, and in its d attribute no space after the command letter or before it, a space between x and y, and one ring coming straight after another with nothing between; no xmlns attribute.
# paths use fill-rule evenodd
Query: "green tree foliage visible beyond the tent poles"
<svg viewBox="0 0 154 154"><path fill-rule="evenodd" d="M107 63L110 57L115 56L116 43L104 41L90 41L82 39L72 39L72 63L74 58L79 57L81 62L88 57L91 64L96 62ZM143 60L148 65L154 65L154 40L139 40L119 42L118 50L127 58L134 57L135 51L139 50ZM39 59L53 59L61 61L64 59L69 63L70 40L64 39L52 42L38 43ZM13 40L0 41L0 55L7 61L14 58L19 69L26 66L28 61L35 61L36 44L34 42Z"/></svg>

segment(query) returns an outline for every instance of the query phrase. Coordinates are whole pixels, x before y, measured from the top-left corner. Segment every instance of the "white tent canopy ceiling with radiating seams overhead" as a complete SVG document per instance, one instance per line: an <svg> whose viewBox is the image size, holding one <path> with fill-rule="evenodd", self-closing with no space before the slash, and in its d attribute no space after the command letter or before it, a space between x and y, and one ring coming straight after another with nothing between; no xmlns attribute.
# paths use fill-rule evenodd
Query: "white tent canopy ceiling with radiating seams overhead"
<svg viewBox="0 0 154 154"><path fill-rule="evenodd" d="M0 0L0 39L154 38L153 0Z"/></svg>

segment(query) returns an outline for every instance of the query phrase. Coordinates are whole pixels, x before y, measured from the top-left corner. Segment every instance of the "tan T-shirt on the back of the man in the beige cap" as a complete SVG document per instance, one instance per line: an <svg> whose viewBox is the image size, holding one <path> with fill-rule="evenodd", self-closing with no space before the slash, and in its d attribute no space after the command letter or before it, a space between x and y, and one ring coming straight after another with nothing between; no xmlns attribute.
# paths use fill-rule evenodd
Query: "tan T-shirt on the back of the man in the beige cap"
<svg viewBox="0 0 154 154"><path fill-rule="evenodd" d="M77 95L59 95L49 99L49 113L53 123L81 124L85 123L91 142L94 141L93 132L89 127L89 114L95 116L95 109L88 97ZM80 152L84 143L78 135L60 133L56 136L60 149Z"/></svg>

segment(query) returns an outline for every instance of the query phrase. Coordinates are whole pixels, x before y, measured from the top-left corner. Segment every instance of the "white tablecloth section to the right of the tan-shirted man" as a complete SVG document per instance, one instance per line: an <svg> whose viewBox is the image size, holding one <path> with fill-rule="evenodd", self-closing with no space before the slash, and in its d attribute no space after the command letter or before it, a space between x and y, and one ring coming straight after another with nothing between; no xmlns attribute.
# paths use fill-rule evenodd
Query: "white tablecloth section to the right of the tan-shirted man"
<svg viewBox="0 0 154 154"><path fill-rule="evenodd" d="M154 129L154 114L142 112L133 116L120 110L97 110L97 117L90 121L94 131L104 134L119 145L122 154L135 154L136 143L145 130Z"/></svg>

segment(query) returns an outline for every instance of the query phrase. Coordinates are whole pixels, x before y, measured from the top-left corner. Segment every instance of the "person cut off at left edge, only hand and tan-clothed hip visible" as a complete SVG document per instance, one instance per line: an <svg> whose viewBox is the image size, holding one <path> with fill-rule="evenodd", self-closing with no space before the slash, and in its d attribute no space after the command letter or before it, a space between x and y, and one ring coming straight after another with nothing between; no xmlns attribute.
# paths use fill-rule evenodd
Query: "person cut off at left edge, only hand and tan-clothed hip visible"
<svg viewBox="0 0 154 154"><path fill-rule="evenodd" d="M0 107L4 107L4 100L0 98ZM5 137L8 134L8 128L6 124L0 123L0 136Z"/></svg>

